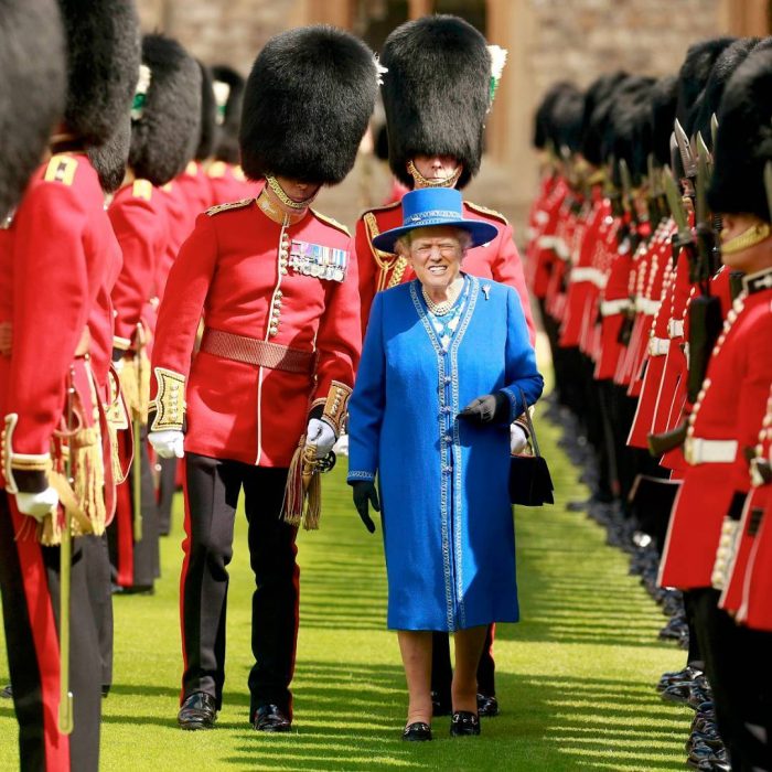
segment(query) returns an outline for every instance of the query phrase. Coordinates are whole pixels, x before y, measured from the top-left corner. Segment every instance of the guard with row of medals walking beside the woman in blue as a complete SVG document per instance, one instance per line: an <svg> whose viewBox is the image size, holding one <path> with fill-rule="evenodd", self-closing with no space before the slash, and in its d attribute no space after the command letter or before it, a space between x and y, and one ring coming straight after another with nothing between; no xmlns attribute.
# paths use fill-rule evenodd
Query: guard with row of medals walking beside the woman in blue
<svg viewBox="0 0 772 772"><path fill-rule="evenodd" d="M150 441L185 458L183 729L212 727L222 705L242 489L256 580L249 718L261 731L291 725L299 572L297 524L282 518L288 472L299 454L321 459L335 442L361 349L351 238L310 204L353 167L376 94L373 54L349 33L272 37L247 82L240 130L244 169L267 184L258 199L200 216L169 275Z"/></svg>

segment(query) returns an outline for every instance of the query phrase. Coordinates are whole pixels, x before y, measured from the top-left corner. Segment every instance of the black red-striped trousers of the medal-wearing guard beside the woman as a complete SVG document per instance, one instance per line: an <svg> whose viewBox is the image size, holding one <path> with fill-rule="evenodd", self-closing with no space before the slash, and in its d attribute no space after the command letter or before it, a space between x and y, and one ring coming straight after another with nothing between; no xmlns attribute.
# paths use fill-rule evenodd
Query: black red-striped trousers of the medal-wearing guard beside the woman
<svg viewBox="0 0 772 772"><path fill-rule="evenodd" d="M183 699L212 695L219 708L225 678L227 566L238 495L244 487L249 562L255 572L249 673L250 719L262 705L291 716L289 690L298 637L298 529L281 519L286 469L250 467L195 453L185 457L185 560L182 629Z"/></svg>

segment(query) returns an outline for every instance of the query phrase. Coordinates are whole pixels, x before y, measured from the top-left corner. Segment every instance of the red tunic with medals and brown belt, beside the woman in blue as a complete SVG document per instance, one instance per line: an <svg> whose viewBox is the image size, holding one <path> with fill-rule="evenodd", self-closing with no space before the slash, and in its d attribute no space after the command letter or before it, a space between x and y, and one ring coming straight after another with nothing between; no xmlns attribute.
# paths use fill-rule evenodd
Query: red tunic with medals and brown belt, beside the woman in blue
<svg viewBox="0 0 772 772"><path fill-rule="evenodd" d="M323 248L346 260L342 281L292 267L294 251ZM210 329L315 352L315 379L201 351L191 362L202 312ZM169 275L151 398L162 396L159 368L178 374L185 382L186 451L289 467L311 403L324 399L333 380L353 385L361 344L356 261L343 226L310 211L283 228L254 200L214 207L199 217Z"/></svg>

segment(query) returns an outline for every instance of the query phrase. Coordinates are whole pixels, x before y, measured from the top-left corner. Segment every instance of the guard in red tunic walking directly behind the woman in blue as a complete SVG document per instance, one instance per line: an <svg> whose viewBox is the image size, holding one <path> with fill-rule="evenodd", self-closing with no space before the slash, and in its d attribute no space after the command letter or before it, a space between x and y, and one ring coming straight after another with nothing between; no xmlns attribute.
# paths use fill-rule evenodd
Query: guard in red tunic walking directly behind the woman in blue
<svg viewBox="0 0 772 772"><path fill-rule="evenodd" d="M485 118L501 76L506 52L493 46L471 24L458 17L425 17L397 28L386 40L382 63L382 95L388 128L389 165L408 190L463 189L480 170ZM493 85L492 85L493 84ZM405 258L373 245L380 233L403 223L400 201L365 212L356 224L356 260L360 271L362 330L367 326L375 293L415 278ZM464 216L495 225L497 236L470 249L464 271L492 278L517 290L532 342L536 328L512 227L506 218L484 206L464 201ZM522 449L524 430L516 425L513 442ZM433 636L432 691L450 712L450 650L448 635ZM481 711L495 715L493 626L480 665Z"/></svg>

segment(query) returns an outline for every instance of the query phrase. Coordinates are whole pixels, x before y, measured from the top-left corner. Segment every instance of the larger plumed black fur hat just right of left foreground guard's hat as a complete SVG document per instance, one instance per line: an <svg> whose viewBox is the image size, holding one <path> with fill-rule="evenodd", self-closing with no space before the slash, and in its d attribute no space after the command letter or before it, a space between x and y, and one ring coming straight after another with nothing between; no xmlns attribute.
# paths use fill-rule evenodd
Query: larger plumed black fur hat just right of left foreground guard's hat
<svg viewBox="0 0 772 772"><path fill-rule="evenodd" d="M160 34L142 39L142 64L150 84L131 121L129 165L136 176L165 185L199 143L201 69L175 40Z"/></svg>

